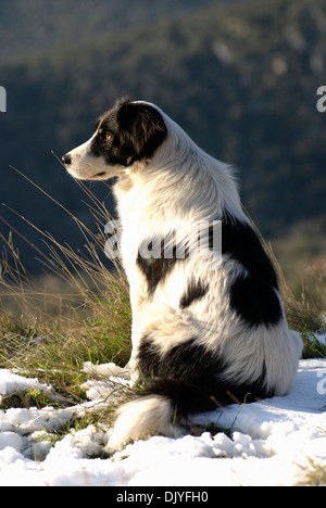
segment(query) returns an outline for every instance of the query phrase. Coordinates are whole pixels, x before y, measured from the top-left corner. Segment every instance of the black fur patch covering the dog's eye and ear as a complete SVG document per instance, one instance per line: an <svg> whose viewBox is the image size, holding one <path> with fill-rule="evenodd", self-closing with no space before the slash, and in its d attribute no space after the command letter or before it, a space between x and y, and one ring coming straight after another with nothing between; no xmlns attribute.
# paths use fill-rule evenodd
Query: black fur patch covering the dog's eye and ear
<svg viewBox="0 0 326 508"><path fill-rule="evenodd" d="M167 136L163 117L155 107L129 100L118 102L100 116L97 129L90 153L102 156L111 166L127 167L136 161L151 158Z"/></svg>

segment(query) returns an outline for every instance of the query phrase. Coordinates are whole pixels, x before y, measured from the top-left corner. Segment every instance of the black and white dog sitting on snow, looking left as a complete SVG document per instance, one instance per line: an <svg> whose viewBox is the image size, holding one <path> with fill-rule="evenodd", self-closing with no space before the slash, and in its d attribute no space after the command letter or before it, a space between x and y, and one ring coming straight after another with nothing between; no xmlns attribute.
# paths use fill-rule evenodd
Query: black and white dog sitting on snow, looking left
<svg viewBox="0 0 326 508"><path fill-rule="evenodd" d="M230 167L159 107L129 100L104 113L93 136L63 163L78 179L117 177L133 308L128 368L147 382L143 394L120 409L109 446L148 432L177 435L191 414L287 394L302 341L287 326L274 268L242 211ZM190 255L203 221L210 225L205 247ZM220 257L212 246L216 221ZM181 237L186 249L178 256L175 238ZM166 238L174 239L170 255ZM141 255L158 239L159 255Z"/></svg>

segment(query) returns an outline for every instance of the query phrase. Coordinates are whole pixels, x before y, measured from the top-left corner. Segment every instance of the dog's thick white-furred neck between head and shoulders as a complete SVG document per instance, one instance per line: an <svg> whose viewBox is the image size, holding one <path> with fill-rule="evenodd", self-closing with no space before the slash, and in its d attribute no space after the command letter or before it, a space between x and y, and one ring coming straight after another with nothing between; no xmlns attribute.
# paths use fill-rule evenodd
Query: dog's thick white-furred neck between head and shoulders
<svg viewBox="0 0 326 508"><path fill-rule="evenodd" d="M117 179L121 219L137 211L152 221L163 216L222 219L226 213L247 220L233 169L203 152L171 118L164 120L170 136L154 156L125 168Z"/></svg>

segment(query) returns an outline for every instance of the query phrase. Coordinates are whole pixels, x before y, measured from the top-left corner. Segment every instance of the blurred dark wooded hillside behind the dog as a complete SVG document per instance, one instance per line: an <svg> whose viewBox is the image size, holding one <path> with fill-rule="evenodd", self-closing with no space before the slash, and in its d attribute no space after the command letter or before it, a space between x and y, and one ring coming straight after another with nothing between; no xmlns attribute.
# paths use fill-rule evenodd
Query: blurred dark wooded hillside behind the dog
<svg viewBox="0 0 326 508"><path fill-rule="evenodd" d="M325 0L0 0L0 231L13 230L35 277L46 268L29 244L45 245L26 220L74 249L85 239L10 166L92 228L85 193L52 152L88 139L128 94L237 168L243 205L294 293L325 282ZM88 186L114 213L110 188Z"/></svg>

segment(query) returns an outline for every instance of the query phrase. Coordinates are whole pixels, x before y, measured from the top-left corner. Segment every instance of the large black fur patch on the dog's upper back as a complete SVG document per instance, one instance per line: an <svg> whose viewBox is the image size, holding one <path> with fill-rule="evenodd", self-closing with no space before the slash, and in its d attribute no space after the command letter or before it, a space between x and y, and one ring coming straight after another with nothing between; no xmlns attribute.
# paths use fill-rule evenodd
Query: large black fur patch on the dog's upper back
<svg viewBox="0 0 326 508"><path fill-rule="evenodd" d="M252 327L276 325L283 317L277 278L255 231L226 216L222 224L222 253L247 270L230 288L231 307Z"/></svg>

